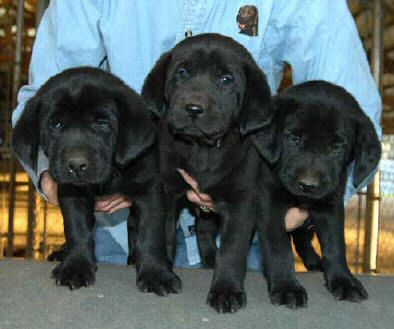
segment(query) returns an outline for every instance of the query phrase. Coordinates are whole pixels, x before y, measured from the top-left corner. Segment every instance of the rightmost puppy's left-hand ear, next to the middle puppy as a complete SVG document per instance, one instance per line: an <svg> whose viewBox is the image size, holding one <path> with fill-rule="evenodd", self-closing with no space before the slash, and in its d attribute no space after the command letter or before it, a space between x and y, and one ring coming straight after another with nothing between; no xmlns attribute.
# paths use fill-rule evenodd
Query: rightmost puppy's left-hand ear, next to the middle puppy
<svg viewBox="0 0 394 329"><path fill-rule="evenodd" d="M273 97L271 121L251 136L258 152L270 164L275 164L280 157L284 113L288 106L292 106L292 104L278 96Z"/></svg>

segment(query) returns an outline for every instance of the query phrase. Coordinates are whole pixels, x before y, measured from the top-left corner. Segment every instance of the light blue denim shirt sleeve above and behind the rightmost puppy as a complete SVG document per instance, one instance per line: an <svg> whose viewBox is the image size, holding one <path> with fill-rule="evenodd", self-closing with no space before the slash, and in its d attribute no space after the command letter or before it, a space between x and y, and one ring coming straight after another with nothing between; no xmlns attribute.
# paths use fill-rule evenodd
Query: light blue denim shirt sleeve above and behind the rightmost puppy
<svg viewBox="0 0 394 329"><path fill-rule="evenodd" d="M370 117L381 139L382 101L346 1L299 1L287 31L283 61L292 67L293 82L326 80L344 87ZM345 201L371 182L377 170L354 188L352 166Z"/></svg>

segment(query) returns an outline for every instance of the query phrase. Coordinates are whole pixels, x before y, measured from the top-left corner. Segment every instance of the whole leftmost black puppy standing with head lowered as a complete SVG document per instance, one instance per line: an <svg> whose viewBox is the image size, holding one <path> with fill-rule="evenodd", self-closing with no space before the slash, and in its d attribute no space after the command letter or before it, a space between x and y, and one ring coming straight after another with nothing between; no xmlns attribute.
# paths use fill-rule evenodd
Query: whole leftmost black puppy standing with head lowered
<svg viewBox="0 0 394 329"><path fill-rule="evenodd" d="M165 246L156 123L141 96L94 68L50 78L28 101L13 133L17 157L36 167L40 149L58 183L67 252L52 274L71 289L93 284L95 197L123 193L138 225L137 285L157 294L178 292ZM135 237L130 237L134 246Z"/></svg>

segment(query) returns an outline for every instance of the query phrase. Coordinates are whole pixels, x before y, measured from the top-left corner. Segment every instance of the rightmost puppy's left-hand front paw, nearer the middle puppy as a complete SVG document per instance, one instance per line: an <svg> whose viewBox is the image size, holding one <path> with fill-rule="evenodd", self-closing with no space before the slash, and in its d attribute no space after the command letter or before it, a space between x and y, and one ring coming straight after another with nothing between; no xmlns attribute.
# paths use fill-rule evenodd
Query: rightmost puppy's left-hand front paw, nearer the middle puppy
<svg viewBox="0 0 394 329"><path fill-rule="evenodd" d="M273 305L286 305L291 309L306 307L308 294L297 280L282 281L271 286L270 299Z"/></svg>

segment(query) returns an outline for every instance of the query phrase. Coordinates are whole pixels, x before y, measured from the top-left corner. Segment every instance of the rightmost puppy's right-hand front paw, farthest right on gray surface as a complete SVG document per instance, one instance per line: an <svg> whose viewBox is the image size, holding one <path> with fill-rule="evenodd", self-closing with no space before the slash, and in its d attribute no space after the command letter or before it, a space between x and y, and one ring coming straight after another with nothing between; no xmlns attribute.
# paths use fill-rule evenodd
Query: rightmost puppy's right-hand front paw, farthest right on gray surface
<svg viewBox="0 0 394 329"><path fill-rule="evenodd" d="M355 277L334 277L326 281L328 290L337 300L360 302L368 298L368 293Z"/></svg>

